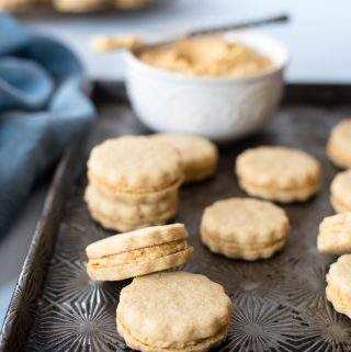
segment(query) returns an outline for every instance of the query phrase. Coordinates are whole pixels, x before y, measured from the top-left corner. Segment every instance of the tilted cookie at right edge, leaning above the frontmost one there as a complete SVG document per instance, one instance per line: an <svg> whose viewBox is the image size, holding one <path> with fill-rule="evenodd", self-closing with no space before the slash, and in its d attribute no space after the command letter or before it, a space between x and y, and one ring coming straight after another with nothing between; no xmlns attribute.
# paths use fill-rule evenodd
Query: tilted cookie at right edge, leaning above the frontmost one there
<svg viewBox="0 0 351 352"><path fill-rule="evenodd" d="M351 253L351 213L325 217L319 225L317 247L322 253Z"/></svg>

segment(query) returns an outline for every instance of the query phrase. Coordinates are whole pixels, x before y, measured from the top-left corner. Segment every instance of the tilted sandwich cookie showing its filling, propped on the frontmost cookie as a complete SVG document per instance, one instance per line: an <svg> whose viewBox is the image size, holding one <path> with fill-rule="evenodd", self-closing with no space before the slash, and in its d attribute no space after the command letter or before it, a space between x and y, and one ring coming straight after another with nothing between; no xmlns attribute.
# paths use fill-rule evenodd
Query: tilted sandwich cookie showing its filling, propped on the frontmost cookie
<svg viewBox="0 0 351 352"><path fill-rule="evenodd" d="M182 224L107 237L87 247L88 274L97 281L118 281L178 266L193 254L186 238Z"/></svg>

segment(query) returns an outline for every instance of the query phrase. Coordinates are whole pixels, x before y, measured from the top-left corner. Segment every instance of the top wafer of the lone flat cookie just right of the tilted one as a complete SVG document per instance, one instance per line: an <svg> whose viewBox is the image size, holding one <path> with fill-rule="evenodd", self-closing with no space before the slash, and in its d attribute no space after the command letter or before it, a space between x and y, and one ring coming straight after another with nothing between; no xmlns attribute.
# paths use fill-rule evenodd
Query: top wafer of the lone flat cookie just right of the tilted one
<svg viewBox="0 0 351 352"><path fill-rule="evenodd" d="M268 243L285 237L290 227L279 206L253 198L227 198L205 208L201 229L219 240L240 245Z"/></svg>

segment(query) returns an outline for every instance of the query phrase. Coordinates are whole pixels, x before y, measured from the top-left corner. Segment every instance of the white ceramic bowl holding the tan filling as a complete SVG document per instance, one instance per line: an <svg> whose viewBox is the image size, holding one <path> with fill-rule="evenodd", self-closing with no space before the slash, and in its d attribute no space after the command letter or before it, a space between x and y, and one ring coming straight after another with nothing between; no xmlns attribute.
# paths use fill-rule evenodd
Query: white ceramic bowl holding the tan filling
<svg viewBox="0 0 351 352"><path fill-rule="evenodd" d="M228 141L256 132L272 115L283 92L287 49L253 31L225 38L268 55L273 67L242 78L193 77L147 65L126 52L128 96L146 126Z"/></svg>

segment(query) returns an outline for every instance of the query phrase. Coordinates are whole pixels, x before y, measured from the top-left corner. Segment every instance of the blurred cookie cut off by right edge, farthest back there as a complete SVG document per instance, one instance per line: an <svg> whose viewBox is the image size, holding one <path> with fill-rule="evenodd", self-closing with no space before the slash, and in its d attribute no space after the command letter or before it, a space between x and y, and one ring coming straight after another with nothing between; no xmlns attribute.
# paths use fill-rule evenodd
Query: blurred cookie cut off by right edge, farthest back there
<svg viewBox="0 0 351 352"><path fill-rule="evenodd" d="M351 168L351 118L339 122L331 130L327 155L342 169Z"/></svg>

